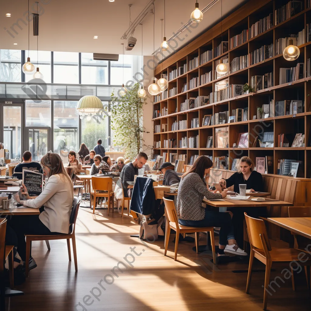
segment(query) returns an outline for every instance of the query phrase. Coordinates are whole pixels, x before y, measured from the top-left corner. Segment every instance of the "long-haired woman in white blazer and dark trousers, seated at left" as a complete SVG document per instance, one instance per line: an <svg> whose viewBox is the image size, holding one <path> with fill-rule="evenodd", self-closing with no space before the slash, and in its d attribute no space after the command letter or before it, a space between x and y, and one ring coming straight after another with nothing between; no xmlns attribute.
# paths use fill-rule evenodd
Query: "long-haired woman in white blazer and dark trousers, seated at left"
<svg viewBox="0 0 311 311"><path fill-rule="evenodd" d="M17 252L23 261L26 258L25 234L54 235L69 232L69 218L72 211L73 184L57 153L48 152L41 159L43 173L48 177L42 193L37 197L30 197L25 185L23 194L27 200L17 202L24 206L44 207L40 215L13 216L11 226L15 230L18 245ZM35 265L36 267L36 265Z"/></svg>

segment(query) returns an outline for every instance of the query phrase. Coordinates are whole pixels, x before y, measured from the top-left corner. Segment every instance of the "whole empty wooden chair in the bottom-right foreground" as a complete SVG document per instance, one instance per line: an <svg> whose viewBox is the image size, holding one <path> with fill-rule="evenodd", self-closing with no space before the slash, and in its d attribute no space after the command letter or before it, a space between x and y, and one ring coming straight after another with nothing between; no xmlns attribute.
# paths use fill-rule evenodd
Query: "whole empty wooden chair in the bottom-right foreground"
<svg viewBox="0 0 311 311"><path fill-rule="evenodd" d="M248 237L251 245L251 253L249 258L246 293L249 293L250 282L252 278L252 266L254 257L266 265L265 274L265 287L263 292L263 309L267 309L267 291L269 291L268 285L270 284L270 271L273 262L291 262L293 260L299 261L298 254L301 253L300 250L294 248L272 248L268 238L267 229L265 223L262 219L257 219L248 216L246 213L245 220L247 225ZM306 265L309 272L310 278L310 265L311 260L300 264ZM292 283L294 283L294 278L292 274ZM310 280L307 280L308 284ZM295 286L293 286L295 288ZM267 291L266 291L267 290Z"/></svg>

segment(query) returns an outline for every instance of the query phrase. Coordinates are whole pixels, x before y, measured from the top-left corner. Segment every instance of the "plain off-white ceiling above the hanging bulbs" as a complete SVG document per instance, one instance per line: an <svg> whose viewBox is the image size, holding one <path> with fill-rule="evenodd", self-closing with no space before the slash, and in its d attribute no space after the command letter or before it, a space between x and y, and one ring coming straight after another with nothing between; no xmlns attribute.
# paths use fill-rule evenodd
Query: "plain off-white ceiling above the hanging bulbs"
<svg viewBox="0 0 311 311"><path fill-rule="evenodd" d="M132 3L132 21L139 15L150 0L38 0L39 2L39 50L90 52L90 53L116 53L122 54L122 45L127 40L121 36L129 26L129 7ZM228 12L241 5L245 0L223 0L222 13ZM200 0L202 10L211 0ZM166 0L166 37L169 39L183 24L187 23L191 12L194 10L195 0ZM26 49L28 50L28 0L2 1L0 12L0 49ZM221 1L204 13L203 21L195 29L183 33L185 39L180 42L178 49L193 40L207 28L220 20ZM149 10L150 11L150 10ZM30 13L36 12L36 3L30 0ZM6 17L11 13L11 17ZM153 17L149 12L143 19L143 54L153 53ZM155 49L162 42L161 21L164 18L164 0L155 1ZM19 20L22 30L14 26L16 33L10 27ZM25 23L23 23L23 21ZM7 30L14 35L12 38ZM93 39L97 35L98 39ZM126 54L141 54L141 26L135 30L134 37L137 44L131 52ZM32 33L30 22L30 50L36 50L37 38ZM13 45L17 43L17 45Z"/></svg>

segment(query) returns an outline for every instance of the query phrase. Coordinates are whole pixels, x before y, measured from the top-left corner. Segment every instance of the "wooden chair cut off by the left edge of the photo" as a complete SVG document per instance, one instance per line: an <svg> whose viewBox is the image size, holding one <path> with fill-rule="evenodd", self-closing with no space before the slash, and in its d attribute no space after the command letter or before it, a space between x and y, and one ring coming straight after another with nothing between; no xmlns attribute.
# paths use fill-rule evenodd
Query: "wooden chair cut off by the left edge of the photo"
<svg viewBox="0 0 311 311"><path fill-rule="evenodd" d="M0 222L0 273L3 277L4 272L4 262L8 258L9 259L9 276L10 276L10 287L14 289L14 256L13 256L13 248L14 245L5 245L5 233L7 229L7 220L3 219ZM4 257L3 257L4 251ZM3 264L2 264L3 263Z"/></svg>

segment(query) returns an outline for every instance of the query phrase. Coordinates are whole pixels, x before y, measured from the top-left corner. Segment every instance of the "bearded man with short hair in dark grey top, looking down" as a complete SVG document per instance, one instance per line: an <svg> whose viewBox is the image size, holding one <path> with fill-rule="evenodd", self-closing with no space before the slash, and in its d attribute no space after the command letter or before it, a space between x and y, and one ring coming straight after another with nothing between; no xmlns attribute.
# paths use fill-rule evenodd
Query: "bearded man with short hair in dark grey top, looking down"
<svg viewBox="0 0 311 311"><path fill-rule="evenodd" d="M128 182L133 182L135 175L138 175L138 169L141 169L144 164L146 164L146 161L148 160L148 156L145 152L140 152L135 160L132 162L126 164L122 172L120 174L122 186L123 186L123 192L125 197L131 197L132 196L132 189L128 189Z"/></svg>

